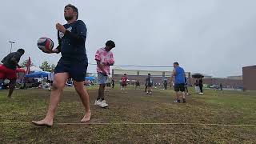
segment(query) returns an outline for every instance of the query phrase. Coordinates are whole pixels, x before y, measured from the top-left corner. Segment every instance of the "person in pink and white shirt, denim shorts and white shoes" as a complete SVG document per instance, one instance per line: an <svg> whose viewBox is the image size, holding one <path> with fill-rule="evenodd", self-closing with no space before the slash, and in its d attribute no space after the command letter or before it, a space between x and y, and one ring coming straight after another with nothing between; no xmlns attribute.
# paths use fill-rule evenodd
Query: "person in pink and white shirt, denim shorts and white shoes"
<svg viewBox="0 0 256 144"><path fill-rule="evenodd" d="M113 53L110 51L115 47L113 41L107 41L106 46L96 51L95 60L97 62L98 73L98 98L94 102L94 105L106 108L109 106L104 99L104 90L106 86L106 78L110 74L110 66L114 65Z"/></svg>

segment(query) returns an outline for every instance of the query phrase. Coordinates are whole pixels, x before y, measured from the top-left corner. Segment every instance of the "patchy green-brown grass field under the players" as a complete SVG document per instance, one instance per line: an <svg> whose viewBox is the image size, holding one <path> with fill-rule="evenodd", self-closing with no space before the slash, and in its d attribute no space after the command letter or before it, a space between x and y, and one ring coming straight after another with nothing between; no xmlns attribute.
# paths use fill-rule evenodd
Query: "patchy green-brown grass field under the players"
<svg viewBox="0 0 256 144"><path fill-rule="evenodd" d="M184 104L173 102L173 90L149 96L143 90L121 94L114 89L106 92L110 106L101 109L93 105L97 87L88 91L90 124L79 123L82 103L74 89L66 88L54 126L47 128L26 122L45 116L50 91L16 90L9 99L0 90L0 143L256 143L255 92L206 90Z"/></svg>

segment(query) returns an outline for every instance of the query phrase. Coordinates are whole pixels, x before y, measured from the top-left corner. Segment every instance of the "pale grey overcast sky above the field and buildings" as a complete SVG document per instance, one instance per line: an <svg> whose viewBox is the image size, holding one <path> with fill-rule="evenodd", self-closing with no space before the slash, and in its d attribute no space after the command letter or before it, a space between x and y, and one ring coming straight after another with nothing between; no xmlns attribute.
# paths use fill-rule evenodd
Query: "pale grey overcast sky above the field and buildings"
<svg viewBox="0 0 256 144"><path fill-rule="evenodd" d="M55 24L66 23L63 10L69 3L86 23L91 63L109 39L116 43L117 65L179 62L192 73L226 77L242 74L242 66L256 62L255 0L8 0L0 9L0 58L10 53L11 40L16 42L13 50L26 50L21 62L30 56L36 66L57 64L60 54L44 54L36 43L46 36L58 44ZM96 70L89 66L88 71Z"/></svg>

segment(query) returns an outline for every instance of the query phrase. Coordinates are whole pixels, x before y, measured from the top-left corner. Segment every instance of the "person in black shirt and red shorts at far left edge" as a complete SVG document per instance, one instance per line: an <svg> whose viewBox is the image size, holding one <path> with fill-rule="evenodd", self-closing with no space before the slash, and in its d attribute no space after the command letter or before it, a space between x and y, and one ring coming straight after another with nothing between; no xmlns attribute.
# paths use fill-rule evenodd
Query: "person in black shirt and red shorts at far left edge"
<svg viewBox="0 0 256 144"><path fill-rule="evenodd" d="M0 66L0 79L9 79L9 94L8 98L12 98L11 95L14 92L15 86L16 86L16 68L21 68L21 66L18 65L18 62L22 55L25 53L25 50L18 49L17 52L8 54L5 58L2 59L2 65Z"/></svg>

